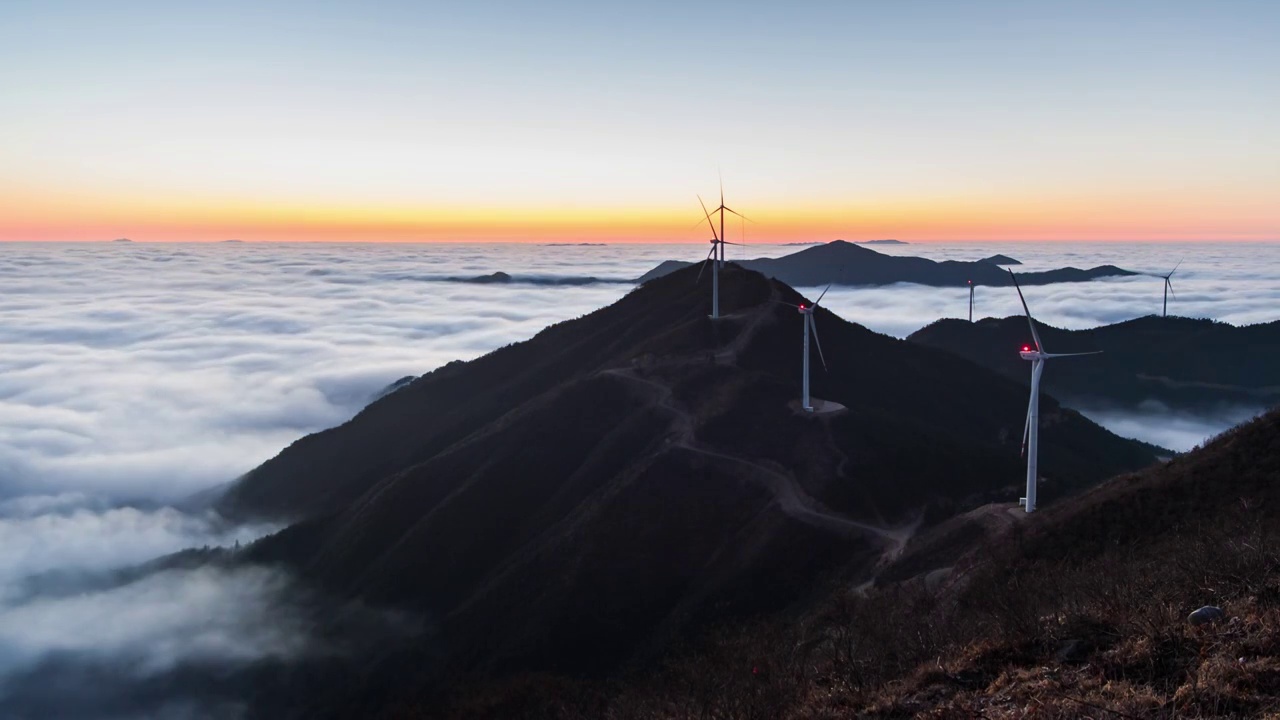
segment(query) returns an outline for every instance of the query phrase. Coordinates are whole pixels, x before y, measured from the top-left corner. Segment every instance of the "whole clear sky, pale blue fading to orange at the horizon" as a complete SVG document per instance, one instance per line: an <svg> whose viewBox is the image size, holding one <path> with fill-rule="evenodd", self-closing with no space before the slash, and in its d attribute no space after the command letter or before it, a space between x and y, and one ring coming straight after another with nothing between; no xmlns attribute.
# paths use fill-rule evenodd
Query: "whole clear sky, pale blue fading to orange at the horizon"
<svg viewBox="0 0 1280 720"><path fill-rule="evenodd" d="M0 240L1277 240L1280 4L0 4Z"/></svg>

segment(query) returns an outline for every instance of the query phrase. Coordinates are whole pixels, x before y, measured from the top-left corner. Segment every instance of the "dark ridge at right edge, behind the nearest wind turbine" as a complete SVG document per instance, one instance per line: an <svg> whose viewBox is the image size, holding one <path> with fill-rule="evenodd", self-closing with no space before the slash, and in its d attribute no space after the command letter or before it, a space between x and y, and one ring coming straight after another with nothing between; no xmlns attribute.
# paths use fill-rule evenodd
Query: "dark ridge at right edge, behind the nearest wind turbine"
<svg viewBox="0 0 1280 720"><path fill-rule="evenodd" d="M1050 352L1103 351L1044 373L1043 388L1069 404L1135 409L1156 401L1190 411L1280 404L1280 322L1235 327L1148 315L1088 331L1038 328ZM908 340L1029 383L1029 364L1018 356L1030 342L1025 316L938 320Z"/></svg>

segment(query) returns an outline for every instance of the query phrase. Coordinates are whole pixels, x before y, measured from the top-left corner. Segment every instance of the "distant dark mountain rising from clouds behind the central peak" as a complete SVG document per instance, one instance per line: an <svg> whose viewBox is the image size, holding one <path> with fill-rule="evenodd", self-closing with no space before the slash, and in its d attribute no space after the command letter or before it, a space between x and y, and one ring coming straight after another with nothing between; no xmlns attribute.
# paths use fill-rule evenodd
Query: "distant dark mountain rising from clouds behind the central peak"
<svg viewBox="0 0 1280 720"><path fill-rule="evenodd" d="M639 282L648 282L690 264L667 260L641 275ZM742 260L739 264L792 286L827 283L878 286L905 282L934 287L968 287L970 281L978 286L1004 287L1012 284L1006 270L984 260L977 263L945 260L940 263L925 258L884 255L870 247L842 240L809 247L783 258ZM1023 273L1018 275L1018 282L1024 286L1051 284L1133 274L1137 273L1123 270L1115 265L1101 265L1088 270L1060 268L1041 273Z"/></svg>

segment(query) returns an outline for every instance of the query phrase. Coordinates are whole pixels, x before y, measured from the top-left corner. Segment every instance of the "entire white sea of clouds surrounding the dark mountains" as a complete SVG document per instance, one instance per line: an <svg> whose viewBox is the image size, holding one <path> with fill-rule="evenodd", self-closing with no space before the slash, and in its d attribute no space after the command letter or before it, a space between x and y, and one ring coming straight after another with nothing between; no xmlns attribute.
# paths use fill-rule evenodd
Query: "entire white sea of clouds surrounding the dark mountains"
<svg viewBox="0 0 1280 720"><path fill-rule="evenodd" d="M398 378L613 302L660 260L698 260L705 247L0 243L0 715L6 697L56 700L31 683L68 657L145 679L182 664L314 652L280 611L292 582L276 573L110 573L273 530L228 527L180 501L344 421ZM1111 263L1156 273L1183 260L1171 313L1236 324L1280 318L1276 245L877 249L964 260L1004 252L1029 270ZM730 259L796 250L735 247ZM444 279L499 270L525 282ZM1039 286L1027 299L1039 320L1085 328L1158 313L1161 283ZM824 305L904 337L964 316L968 291L832 288ZM979 288L977 306L979 316L1019 310L1010 288ZM1176 450L1236 421L1083 410Z"/></svg>

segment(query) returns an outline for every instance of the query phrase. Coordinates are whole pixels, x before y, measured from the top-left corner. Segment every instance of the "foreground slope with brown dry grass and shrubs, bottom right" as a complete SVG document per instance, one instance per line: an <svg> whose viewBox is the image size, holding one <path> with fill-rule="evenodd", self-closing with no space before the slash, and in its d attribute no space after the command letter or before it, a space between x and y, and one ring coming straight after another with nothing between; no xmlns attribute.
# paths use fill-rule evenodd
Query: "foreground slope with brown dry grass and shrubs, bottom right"
<svg viewBox="0 0 1280 720"><path fill-rule="evenodd" d="M607 683L499 679L447 712L1274 716L1276 478L1280 410L1034 515L1001 505L956 516L916 536L883 587L722 628L659 669Z"/></svg>

